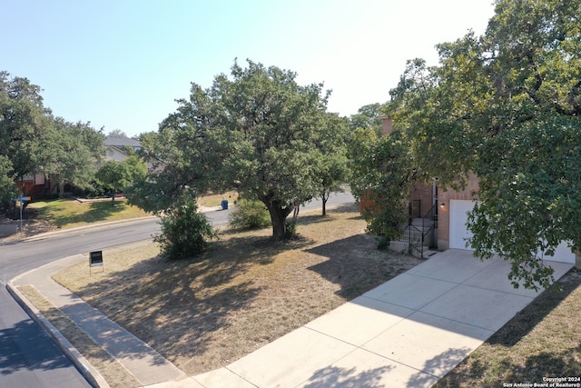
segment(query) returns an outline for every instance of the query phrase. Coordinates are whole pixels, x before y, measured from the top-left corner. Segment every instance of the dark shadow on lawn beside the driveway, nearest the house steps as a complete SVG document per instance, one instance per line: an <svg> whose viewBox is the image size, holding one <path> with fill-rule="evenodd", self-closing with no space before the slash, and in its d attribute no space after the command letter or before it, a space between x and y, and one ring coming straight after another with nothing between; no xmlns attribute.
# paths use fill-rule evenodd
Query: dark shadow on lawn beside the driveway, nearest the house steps
<svg viewBox="0 0 581 388"><path fill-rule="evenodd" d="M338 294L346 300L359 296L421 263L416 257L378 251L375 240L367 234L356 234L306 252L329 258L309 269L330 282L340 284Z"/></svg>

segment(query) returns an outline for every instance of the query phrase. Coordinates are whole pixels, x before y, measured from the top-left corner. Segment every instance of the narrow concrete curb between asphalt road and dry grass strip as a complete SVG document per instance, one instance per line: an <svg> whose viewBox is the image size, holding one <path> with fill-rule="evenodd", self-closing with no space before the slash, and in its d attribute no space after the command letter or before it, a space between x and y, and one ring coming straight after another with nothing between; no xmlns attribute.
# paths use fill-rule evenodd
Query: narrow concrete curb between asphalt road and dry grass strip
<svg viewBox="0 0 581 388"><path fill-rule="evenodd" d="M54 343L63 351L66 357L71 360L76 369L83 375L85 380L93 385L95 388L111 388L109 383L105 381L103 375L97 371L91 363L84 358L83 354L70 343L64 335L50 323L44 315L30 303L25 296L18 291L12 282L6 283L6 290L15 298L15 301L25 310L26 313L38 323L46 333L53 339Z"/></svg>

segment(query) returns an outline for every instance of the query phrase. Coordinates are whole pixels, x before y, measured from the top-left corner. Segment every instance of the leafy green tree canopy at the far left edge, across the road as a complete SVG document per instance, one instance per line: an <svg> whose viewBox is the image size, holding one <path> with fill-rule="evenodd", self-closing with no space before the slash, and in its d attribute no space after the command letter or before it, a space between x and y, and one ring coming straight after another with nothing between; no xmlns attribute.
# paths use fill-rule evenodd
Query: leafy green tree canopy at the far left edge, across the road
<svg viewBox="0 0 581 388"><path fill-rule="evenodd" d="M46 174L61 191L65 183L87 187L103 155L103 134L90 123L54 117L44 107L40 86L0 72L0 201L5 207L18 195L15 181L29 175Z"/></svg>

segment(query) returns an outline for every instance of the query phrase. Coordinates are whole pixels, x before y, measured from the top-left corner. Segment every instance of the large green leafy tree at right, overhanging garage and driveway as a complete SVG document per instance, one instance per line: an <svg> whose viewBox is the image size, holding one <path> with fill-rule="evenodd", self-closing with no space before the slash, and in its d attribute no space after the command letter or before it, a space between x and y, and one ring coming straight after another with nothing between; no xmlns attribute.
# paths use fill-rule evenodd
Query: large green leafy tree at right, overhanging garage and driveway
<svg viewBox="0 0 581 388"><path fill-rule="evenodd" d="M581 2L495 9L485 35L438 46L440 65L410 62L389 110L423 171L456 187L478 175L470 243L537 288L552 274L539 253L581 243Z"/></svg>

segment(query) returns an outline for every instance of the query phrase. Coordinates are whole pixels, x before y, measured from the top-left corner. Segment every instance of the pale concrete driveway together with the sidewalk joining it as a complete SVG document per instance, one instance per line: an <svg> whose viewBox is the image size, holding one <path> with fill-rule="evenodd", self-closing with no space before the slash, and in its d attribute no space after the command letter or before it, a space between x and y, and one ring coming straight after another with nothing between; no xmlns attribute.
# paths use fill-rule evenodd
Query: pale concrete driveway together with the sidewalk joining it
<svg viewBox="0 0 581 388"><path fill-rule="evenodd" d="M513 288L507 262L480 262L471 252L448 250L234 363L186 377L55 287L50 275L74 260L79 258L45 265L13 283L34 284L79 327L96 331L90 333L95 341L149 388L428 387L537 296ZM556 279L572 267L547 264Z"/></svg>

